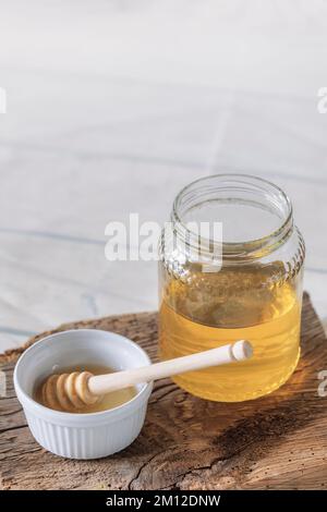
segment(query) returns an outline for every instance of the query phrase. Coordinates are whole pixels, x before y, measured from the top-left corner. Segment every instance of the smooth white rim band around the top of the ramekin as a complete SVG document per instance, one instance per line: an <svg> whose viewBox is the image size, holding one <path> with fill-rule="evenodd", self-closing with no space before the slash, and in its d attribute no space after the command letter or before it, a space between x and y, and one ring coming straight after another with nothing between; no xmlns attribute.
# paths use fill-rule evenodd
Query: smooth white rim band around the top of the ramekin
<svg viewBox="0 0 327 512"><path fill-rule="evenodd" d="M31 355L32 352L38 350L40 345L44 345L45 343L49 342L49 340L53 340L56 338L60 338L63 334L69 334L69 333L82 333L82 332L93 332L94 336L98 336L98 333L108 334L108 336L113 336L117 339L122 340L124 343L128 345L133 346L136 349L140 354L145 356L146 364L144 366L150 365L150 358L148 354L143 350L137 343L134 341L130 340L129 338L118 334L117 332L112 331L106 331L104 329L68 329L64 331L60 332L55 332L52 334L46 336L41 338L40 340L36 341L33 343L33 345L28 346L23 354L20 356L17 359L15 367L14 367L14 373L13 373L13 382L14 382L14 389L16 393L17 400L21 402L23 409L28 411L28 412L34 412L37 416L41 417L48 417L48 419L51 419L55 423L60 423L60 424L78 424L81 427L85 427L85 424L88 422L95 422L99 420L100 423L110 423L111 420L117 420L119 416L121 415L129 415L132 413L135 409L138 409L141 406L141 403L144 403L145 400L149 398L149 394L153 389L153 382L146 382L143 385L142 389L133 397L131 400L128 402L122 403L121 405L117 405L116 407L109 409L107 411L100 411L97 413L68 413L63 411L55 411L50 407L46 407L45 405L41 405L38 403L36 400L34 400L21 386L20 379L19 379L19 371L21 370L22 365L24 365L24 359L26 356ZM57 420L57 422L56 422Z"/></svg>

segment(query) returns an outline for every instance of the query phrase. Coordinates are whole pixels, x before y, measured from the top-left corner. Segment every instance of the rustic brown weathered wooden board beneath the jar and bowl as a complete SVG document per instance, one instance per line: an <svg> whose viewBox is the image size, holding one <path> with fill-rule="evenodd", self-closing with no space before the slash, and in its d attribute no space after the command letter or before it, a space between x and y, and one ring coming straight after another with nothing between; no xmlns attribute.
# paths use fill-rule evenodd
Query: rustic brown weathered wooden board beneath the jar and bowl
<svg viewBox="0 0 327 512"><path fill-rule="evenodd" d="M61 326L128 336L156 359L157 317L124 315ZM45 336L28 341L28 345ZM323 327L304 296L302 357L292 378L264 399L238 404L203 401L169 379L155 386L141 436L99 461L69 461L32 438L12 387L14 361L0 356L9 392L0 400L2 489L323 489L327 486L327 369Z"/></svg>

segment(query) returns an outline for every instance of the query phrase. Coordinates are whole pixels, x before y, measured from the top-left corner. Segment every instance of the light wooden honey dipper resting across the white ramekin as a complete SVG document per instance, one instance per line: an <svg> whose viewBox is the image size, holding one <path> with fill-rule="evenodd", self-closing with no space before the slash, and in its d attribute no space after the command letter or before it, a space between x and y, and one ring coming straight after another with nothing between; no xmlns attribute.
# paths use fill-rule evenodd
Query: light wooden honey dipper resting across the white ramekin
<svg viewBox="0 0 327 512"><path fill-rule="evenodd" d="M209 366L249 359L253 350L249 341L240 340L204 352L164 361L141 368L94 376L89 371L51 375L43 385L44 404L71 412L96 403L104 394L129 388L140 382L164 379L172 375Z"/></svg>

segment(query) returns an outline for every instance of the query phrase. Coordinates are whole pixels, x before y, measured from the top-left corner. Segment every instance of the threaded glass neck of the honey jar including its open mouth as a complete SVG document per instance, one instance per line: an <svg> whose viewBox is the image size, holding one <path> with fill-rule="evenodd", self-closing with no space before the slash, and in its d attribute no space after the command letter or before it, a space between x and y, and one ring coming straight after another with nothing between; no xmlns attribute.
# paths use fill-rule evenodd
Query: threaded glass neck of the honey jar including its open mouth
<svg viewBox="0 0 327 512"><path fill-rule="evenodd" d="M208 220L221 224L216 230L220 236L203 235L201 224ZM288 196L268 181L244 174L217 174L191 183L177 196L171 222L178 242L193 256L201 253L209 260L220 254L225 265L270 255L294 229Z"/></svg>

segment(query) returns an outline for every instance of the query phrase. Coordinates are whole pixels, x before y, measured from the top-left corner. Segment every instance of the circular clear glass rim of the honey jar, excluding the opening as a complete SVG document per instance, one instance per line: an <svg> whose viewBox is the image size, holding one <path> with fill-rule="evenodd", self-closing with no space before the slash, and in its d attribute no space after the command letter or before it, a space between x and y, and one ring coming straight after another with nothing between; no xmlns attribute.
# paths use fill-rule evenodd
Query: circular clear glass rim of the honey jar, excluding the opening
<svg viewBox="0 0 327 512"><path fill-rule="evenodd" d="M290 236L293 229L293 208L289 196L282 191L282 188L280 188L278 185L271 183L268 180L255 175L242 173L221 173L203 176L198 180L189 183L179 192L173 202L171 220L175 225L177 233L180 236L185 237L185 233L187 233L189 241L191 241L191 245L192 232L190 231L186 222L183 219L183 212L180 211L182 208L182 202L183 199L185 199L185 197L187 197L189 194L192 194L192 192L199 190L198 187L202 184L205 186L209 185L210 182L213 183L213 185L218 185L217 191L219 190L219 184L228 184L231 190L238 190L238 186L243 185L247 186L249 191L251 191L251 187L253 187L253 191L261 192L267 197L274 196L275 199L278 198L280 207L279 211L282 214L282 216L280 216L280 224L274 230L268 230L267 234L265 234L264 236L247 239L238 242L222 241L222 253L225 258L233 258L240 256L246 257L246 259L247 257L263 257L263 251L265 252L265 254L270 254L282 243L284 243L286 240ZM196 237L197 242L193 240L193 243L195 244L198 243L198 234L196 234ZM215 241L213 240L206 240L206 243L215 245Z"/></svg>

